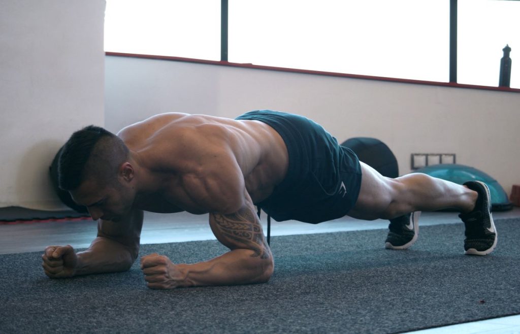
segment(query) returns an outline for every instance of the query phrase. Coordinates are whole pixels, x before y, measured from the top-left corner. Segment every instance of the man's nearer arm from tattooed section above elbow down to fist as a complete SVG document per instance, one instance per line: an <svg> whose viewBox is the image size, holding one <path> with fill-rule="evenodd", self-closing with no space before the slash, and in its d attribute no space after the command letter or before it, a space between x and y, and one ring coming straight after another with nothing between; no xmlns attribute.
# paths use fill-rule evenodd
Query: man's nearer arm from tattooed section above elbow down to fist
<svg viewBox="0 0 520 334"><path fill-rule="evenodd" d="M274 271L271 250L251 202L231 214L210 213L210 225L217 239L230 249L212 260L173 264L153 254L141 260L148 287L239 285L265 283Z"/></svg>

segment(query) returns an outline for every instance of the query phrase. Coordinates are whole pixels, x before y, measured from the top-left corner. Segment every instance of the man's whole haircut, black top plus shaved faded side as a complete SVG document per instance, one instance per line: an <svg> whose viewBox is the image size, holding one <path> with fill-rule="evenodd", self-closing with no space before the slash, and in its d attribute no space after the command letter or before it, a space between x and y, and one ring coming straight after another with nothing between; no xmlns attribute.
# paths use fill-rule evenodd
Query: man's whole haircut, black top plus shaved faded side
<svg viewBox="0 0 520 334"><path fill-rule="evenodd" d="M119 137L95 125L74 132L60 151L58 185L63 190L77 189L93 174L109 177L107 173L116 173L120 161L128 156Z"/></svg>

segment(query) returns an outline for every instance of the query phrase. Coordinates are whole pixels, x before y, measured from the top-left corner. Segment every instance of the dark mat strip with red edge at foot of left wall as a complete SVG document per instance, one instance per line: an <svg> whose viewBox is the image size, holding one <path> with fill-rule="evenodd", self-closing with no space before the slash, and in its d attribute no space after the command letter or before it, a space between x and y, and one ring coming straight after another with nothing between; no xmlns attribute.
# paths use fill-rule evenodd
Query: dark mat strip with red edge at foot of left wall
<svg viewBox="0 0 520 334"><path fill-rule="evenodd" d="M46 211L22 208L19 206L8 206L0 208L0 223L88 217L90 217L88 213L80 213L74 210Z"/></svg>

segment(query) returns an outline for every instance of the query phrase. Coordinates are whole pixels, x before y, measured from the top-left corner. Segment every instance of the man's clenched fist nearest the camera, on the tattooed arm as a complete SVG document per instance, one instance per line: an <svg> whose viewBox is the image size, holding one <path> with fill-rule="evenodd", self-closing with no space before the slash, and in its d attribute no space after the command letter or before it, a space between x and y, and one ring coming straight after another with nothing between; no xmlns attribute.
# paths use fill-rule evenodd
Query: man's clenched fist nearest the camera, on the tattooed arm
<svg viewBox="0 0 520 334"><path fill-rule="evenodd" d="M151 289L175 289L186 277L170 259L158 253L141 258L141 270Z"/></svg>

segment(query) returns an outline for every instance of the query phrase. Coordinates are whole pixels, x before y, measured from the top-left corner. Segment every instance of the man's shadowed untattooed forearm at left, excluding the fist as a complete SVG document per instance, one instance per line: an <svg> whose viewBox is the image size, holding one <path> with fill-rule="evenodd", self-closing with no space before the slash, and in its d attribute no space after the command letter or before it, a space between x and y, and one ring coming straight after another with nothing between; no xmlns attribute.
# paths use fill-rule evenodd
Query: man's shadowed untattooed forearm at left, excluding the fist
<svg viewBox="0 0 520 334"><path fill-rule="evenodd" d="M85 251L77 253L74 275L112 273L127 271L135 261L137 251L99 236Z"/></svg>

